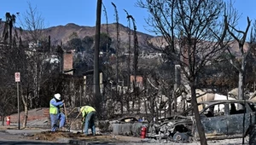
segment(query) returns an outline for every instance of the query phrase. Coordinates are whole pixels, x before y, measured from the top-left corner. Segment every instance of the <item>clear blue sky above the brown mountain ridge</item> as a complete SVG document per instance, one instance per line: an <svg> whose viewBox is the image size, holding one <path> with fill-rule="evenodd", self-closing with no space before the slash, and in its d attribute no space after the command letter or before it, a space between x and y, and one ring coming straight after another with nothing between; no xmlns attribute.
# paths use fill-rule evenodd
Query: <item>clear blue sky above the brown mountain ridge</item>
<svg viewBox="0 0 256 145"><path fill-rule="evenodd" d="M145 18L148 13L145 9L137 8L137 0L102 0L108 13L108 23L115 22L113 5L115 3L119 12L119 22L127 26L126 9L137 22L139 32L148 33L145 30ZM256 0L233 0L235 8L241 13L239 27L245 29L247 26L247 16L254 20L256 18ZM95 26L96 23L96 0L8 0L0 1L0 18L4 20L4 14L10 12L15 14L20 12L20 16L28 9L27 2L32 4L32 8L37 7L38 12L44 18L44 26L59 26L67 23L75 23L79 26ZM102 13L102 23L106 23L104 13Z"/></svg>

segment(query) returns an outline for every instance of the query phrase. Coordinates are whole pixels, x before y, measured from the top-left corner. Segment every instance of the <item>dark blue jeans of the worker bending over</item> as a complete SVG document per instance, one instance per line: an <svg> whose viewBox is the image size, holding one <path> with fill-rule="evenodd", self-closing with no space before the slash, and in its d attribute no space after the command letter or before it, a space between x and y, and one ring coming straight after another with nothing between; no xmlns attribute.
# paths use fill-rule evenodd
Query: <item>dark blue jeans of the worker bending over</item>
<svg viewBox="0 0 256 145"><path fill-rule="evenodd" d="M84 134L88 135L88 128L90 126L92 135L96 134L96 129L95 129L95 117L96 117L96 112L90 112L86 115L85 117L85 124L84 124Z"/></svg>

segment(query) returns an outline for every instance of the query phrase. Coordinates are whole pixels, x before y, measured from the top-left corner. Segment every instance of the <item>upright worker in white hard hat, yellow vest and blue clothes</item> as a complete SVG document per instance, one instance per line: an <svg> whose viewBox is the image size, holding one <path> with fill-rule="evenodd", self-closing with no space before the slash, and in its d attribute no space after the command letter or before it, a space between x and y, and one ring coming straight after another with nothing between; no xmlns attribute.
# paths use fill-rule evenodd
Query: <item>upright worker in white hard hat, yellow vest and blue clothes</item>
<svg viewBox="0 0 256 145"><path fill-rule="evenodd" d="M51 131L56 131L59 127L63 129L65 124L65 114L61 113L60 107L64 104L64 100L61 101L61 95L55 94L54 98L49 101L49 117L51 123ZM58 126L58 122L60 120L60 125ZM64 129L63 129L64 130Z"/></svg>

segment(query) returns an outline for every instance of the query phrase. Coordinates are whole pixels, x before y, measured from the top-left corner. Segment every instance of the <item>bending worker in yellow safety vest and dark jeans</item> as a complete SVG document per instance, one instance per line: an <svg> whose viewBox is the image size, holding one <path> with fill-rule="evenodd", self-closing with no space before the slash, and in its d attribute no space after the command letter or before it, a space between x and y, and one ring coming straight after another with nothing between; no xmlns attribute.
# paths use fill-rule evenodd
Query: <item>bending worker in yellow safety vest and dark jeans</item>
<svg viewBox="0 0 256 145"><path fill-rule="evenodd" d="M84 123L84 134L85 136L88 135L88 128L90 126L92 135L96 135L95 129L95 118L96 118L96 110L90 106L79 107L79 111L82 113Z"/></svg>

